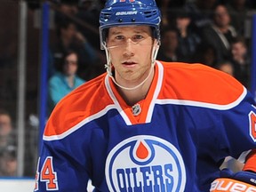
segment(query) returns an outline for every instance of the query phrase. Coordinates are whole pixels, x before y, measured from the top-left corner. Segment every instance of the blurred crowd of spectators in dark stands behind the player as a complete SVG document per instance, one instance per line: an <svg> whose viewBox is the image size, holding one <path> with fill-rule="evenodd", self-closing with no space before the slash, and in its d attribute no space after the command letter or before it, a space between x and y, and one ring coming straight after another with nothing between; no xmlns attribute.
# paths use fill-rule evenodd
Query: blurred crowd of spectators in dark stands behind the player
<svg viewBox="0 0 256 192"><path fill-rule="evenodd" d="M27 0L26 152L24 176L34 176L38 143L42 4ZM105 72L99 15L104 0L52 0L48 60L48 107ZM203 63L234 76L250 90L254 0L156 0L162 12L157 60ZM12 14L9 14L12 10ZM0 6L0 176L17 175L19 2ZM6 17L8 15L8 17ZM8 19L7 19L8 18ZM227 159L230 164L230 159ZM234 164L232 164L234 166ZM239 170L240 164L233 167Z"/></svg>

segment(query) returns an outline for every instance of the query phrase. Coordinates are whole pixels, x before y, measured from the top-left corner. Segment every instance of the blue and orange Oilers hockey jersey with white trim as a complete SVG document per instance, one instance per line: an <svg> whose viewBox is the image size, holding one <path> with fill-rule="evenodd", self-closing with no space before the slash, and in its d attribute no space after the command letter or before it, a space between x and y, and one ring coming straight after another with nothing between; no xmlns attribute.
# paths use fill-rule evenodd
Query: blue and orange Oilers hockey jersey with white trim
<svg viewBox="0 0 256 192"><path fill-rule="evenodd" d="M256 148L255 103L231 76L156 61L145 100L128 106L107 74L52 112L35 191L209 191L225 156Z"/></svg>

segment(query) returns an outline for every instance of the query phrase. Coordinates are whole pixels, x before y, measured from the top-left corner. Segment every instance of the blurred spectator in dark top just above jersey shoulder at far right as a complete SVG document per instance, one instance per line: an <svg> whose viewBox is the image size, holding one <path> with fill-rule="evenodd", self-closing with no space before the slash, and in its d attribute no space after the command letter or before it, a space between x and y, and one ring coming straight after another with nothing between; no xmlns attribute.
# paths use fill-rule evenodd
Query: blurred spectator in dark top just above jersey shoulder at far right
<svg viewBox="0 0 256 192"><path fill-rule="evenodd" d="M231 44L231 62L234 65L234 76L238 81L249 88L251 60L247 52L244 37L237 36Z"/></svg>

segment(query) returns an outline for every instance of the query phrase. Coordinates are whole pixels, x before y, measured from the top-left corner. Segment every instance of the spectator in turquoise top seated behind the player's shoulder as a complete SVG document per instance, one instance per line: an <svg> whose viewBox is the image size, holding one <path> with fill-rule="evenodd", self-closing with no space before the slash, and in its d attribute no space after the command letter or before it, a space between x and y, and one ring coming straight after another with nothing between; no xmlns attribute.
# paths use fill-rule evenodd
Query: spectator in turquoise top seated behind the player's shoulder
<svg viewBox="0 0 256 192"><path fill-rule="evenodd" d="M49 113L68 92L84 84L84 79L76 75L77 69L77 53L72 50L64 52L61 71L57 72L49 80Z"/></svg>

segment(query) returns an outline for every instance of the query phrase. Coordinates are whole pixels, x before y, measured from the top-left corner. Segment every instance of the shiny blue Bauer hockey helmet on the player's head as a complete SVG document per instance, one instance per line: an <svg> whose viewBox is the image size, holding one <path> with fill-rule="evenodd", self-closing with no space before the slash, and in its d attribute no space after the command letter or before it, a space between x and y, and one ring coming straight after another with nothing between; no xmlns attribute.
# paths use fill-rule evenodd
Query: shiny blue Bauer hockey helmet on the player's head
<svg viewBox="0 0 256 192"><path fill-rule="evenodd" d="M108 28L129 25L148 25L160 42L161 13L155 0L107 0L100 12L100 46L106 41Z"/></svg>

